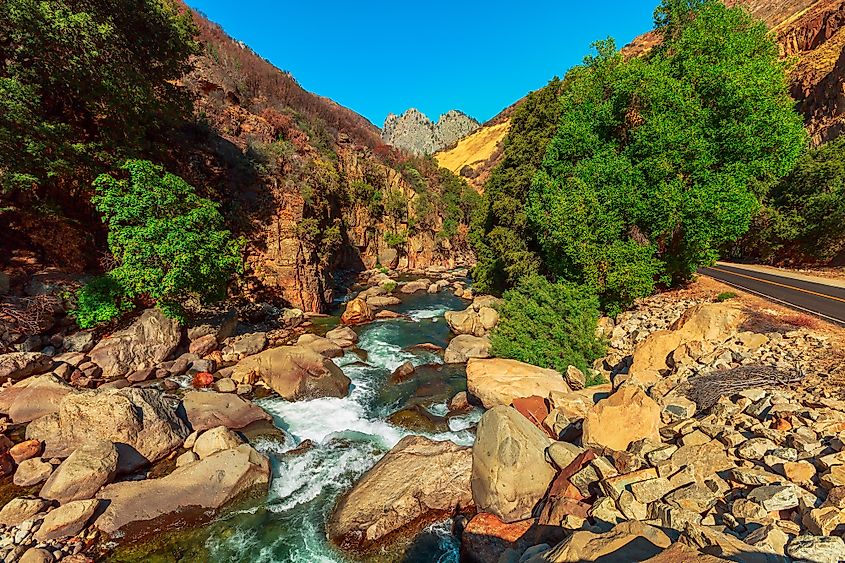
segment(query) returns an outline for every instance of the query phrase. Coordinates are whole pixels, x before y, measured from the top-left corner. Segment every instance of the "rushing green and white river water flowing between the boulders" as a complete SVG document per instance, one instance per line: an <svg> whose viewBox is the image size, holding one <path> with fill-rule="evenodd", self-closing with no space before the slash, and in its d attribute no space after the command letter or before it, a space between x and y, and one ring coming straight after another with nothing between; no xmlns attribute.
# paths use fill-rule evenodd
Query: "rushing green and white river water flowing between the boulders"
<svg viewBox="0 0 845 563"><path fill-rule="evenodd" d="M358 327L357 346L363 353L349 351L336 360L352 380L346 398L288 402L271 397L258 401L285 431L283 442L271 438L253 442L272 462L269 495L265 502L222 516L207 526L200 538L193 538L203 542L204 558L256 563L354 561L326 540L325 522L338 496L407 434L466 445L473 441L472 426L478 412L447 418L446 424L428 432L386 421L391 413L409 405L444 416L446 401L465 389L462 366L444 366L438 354L411 349L423 343L445 347L449 328L443 314L465 307L448 292L420 293L406 297L394 308L408 318ZM390 374L406 361L422 367L408 381L391 382ZM304 440L314 446L303 453L286 453ZM448 523L430 527L401 558L414 563L458 559Z"/></svg>

